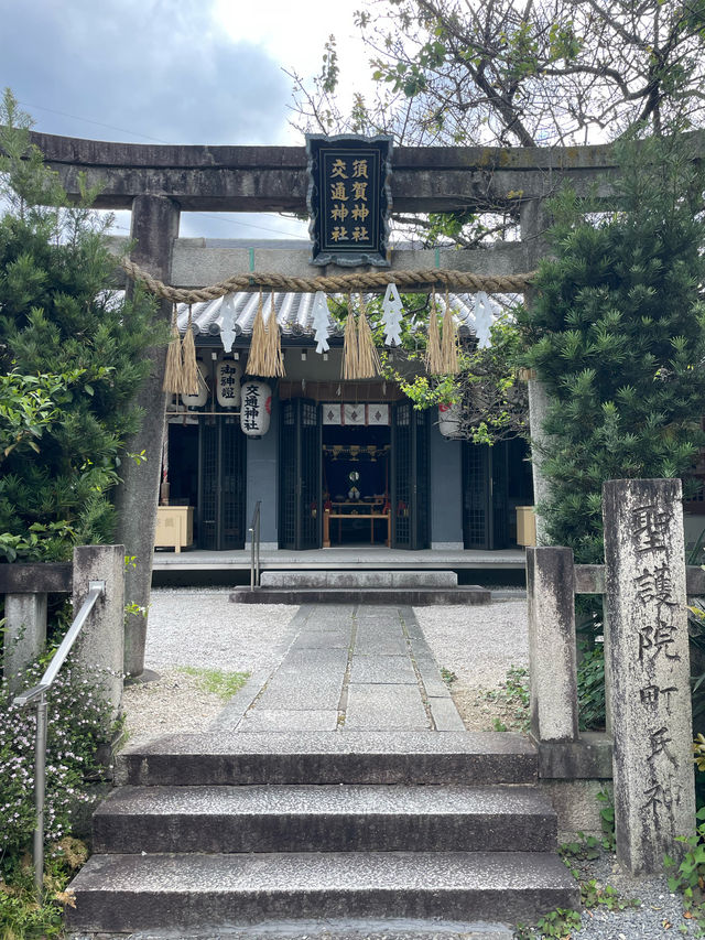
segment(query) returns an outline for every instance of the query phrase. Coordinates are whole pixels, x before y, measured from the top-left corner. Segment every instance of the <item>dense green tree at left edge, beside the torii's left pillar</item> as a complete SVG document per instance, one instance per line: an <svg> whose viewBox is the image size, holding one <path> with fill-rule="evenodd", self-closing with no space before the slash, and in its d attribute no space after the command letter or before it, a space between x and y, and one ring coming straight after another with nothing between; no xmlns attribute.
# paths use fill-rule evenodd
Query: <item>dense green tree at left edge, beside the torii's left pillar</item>
<svg viewBox="0 0 705 940"><path fill-rule="evenodd" d="M153 306L110 289L109 219L87 190L68 205L9 90L0 123L0 533L11 547L0 551L63 559L111 538Z"/></svg>

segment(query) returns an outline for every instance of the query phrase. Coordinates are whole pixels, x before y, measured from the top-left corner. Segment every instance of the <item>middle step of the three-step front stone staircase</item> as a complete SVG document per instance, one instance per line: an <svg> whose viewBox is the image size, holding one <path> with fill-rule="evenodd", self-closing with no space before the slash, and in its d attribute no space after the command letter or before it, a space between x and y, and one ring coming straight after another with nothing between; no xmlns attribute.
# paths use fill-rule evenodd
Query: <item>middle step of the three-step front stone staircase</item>
<svg viewBox="0 0 705 940"><path fill-rule="evenodd" d="M527 787L121 787L95 852L550 852L555 812Z"/></svg>

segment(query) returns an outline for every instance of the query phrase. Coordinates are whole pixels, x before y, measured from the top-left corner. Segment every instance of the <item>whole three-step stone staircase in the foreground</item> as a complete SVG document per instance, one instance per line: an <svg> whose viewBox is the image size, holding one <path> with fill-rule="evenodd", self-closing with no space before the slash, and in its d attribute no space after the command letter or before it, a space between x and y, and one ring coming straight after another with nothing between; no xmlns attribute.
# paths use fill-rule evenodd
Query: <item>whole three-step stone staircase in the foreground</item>
<svg viewBox="0 0 705 940"><path fill-rule="evenodd" d="M172 735L117 772L72 885L82 936L485 937L578 903L519 735Z"/></svg>

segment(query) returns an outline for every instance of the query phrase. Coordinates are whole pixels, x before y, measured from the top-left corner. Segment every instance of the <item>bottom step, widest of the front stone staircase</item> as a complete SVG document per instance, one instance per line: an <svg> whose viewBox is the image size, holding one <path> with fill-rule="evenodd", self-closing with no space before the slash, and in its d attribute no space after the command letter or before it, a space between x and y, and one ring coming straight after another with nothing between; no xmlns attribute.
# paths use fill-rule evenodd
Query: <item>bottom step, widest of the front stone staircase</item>
<svg viewBox="0 0 705 940"><path fill-rule="evenodd" d="M578 904L577 883L557 855L522 852L93 855L70 887L67 929L87 932L280 917L499 915L516 923Z"/></svg>

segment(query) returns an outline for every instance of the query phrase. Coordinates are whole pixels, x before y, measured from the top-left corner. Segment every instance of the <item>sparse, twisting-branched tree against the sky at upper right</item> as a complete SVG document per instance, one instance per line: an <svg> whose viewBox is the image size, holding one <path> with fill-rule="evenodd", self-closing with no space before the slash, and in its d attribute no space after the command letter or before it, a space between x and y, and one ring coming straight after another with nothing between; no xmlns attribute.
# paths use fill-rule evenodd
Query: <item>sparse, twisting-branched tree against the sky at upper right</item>
<svg viewBox="0 0 705 940"><path fill-rule="evenodd" d="M705 123L705 0L365 0L356 21L375 94L341 107L332 36L313 84L292 74L302 131L538 147ZM511 235L517 207L395 219L475 247Z"/></svg>

